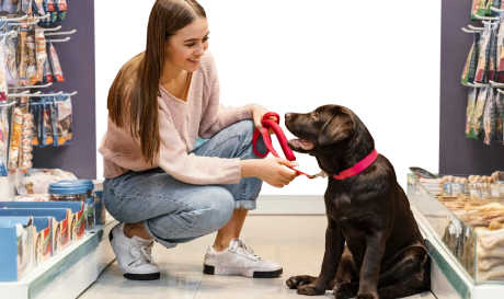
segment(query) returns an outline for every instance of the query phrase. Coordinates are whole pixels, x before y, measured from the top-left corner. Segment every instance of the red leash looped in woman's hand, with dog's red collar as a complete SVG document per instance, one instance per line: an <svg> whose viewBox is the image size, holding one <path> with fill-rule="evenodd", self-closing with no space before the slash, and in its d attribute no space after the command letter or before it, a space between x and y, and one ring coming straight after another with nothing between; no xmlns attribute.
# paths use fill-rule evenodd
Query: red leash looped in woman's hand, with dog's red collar
<svg viewBox="0 0 504 299"><path fill-rule="evenodd" d="M276 120L268 119L268 117L275 116ZM302 158L294 152L288 146L287 146L287 140L293 138L293 136L283 127L279 125L279 119L280 116L278 113L271 111L263 116L263 120L261 120L261 125L263 126L261 130L255 129L254 131L254 137L253 137L253 146L254 146L254 152L257 154L257 157L265 158L265 157L276 157L280 158L278 154L278 151L284 154L284 157L289 160L290 162L300 162L302 161ZM267 134L268 128L271 128L275 135L276 138L278 139L279 147L276 145L276 142L272 141L273 136L270 136ZM257 142L259 135L263 136L264 145L266 145L266 152L264 154L261 154L256 147L255 143ZM374 149L371 153L369 153L366 158L360 160L357 164L353 165L352 168L342 171L339 175L334 174L333 177L336 180L345 180L351 176L354 176L360 172L363 172L365 169L367 169L375 160L378 158L378 151ZM313 176L313 174L293 169L293 168L287 168L289 170L296 171L301 175L306 176Z"/></svg>

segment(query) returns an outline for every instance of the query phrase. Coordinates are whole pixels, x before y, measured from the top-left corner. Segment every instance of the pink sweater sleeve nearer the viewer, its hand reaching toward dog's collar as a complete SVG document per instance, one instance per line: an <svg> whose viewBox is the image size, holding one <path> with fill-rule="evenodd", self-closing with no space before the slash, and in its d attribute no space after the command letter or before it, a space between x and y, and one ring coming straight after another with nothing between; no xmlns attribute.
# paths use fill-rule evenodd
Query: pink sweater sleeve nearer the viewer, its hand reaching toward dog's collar
<svg viewBox="0 0 504 299"><path fill-rule="evenodd" d="M202 157L186 152L170 112L159 115L161 145L158 165L179 181L195 185L237 184L241 180L240 158Z"/></svg>

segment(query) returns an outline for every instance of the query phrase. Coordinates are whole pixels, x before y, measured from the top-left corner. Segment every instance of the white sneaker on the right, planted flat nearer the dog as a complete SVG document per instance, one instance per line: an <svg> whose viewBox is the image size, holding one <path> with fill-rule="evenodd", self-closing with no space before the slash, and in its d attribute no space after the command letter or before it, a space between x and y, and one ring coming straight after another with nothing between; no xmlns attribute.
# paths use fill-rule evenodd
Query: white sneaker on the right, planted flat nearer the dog
<svg viewBox="0 0 504 299"><path fill-rule="evenodd" d="M213 245L208 246L203 263L203 273L208 275L241 275L253 278L276 278L282 275L280 265L261 260L247 248L240 239L233 239L229 248L216 252Z"/></svg>

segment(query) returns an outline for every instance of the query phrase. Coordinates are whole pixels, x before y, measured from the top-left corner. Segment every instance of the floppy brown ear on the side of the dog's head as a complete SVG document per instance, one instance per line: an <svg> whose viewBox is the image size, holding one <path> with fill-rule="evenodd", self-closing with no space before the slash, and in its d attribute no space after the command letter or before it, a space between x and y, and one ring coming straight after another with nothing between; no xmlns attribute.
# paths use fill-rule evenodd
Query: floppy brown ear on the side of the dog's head
<svg viewBox="0 0 504 299"><path fill-rule="evenodd" d="M319 145L330 145L348 138L355 131L356 124L351 115L334 108L334 114L319 134Z"/></svg>

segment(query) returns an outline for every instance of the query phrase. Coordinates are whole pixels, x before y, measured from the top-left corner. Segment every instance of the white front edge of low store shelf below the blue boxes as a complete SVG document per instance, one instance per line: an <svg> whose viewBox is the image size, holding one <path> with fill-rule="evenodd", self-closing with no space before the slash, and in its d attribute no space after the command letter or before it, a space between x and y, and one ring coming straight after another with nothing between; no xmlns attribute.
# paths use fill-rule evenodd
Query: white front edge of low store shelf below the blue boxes
<svg viewBox="0 0 504 299"><path fill-rule="evenodd" d="M0 283L0 298L77 298L115 260L108 232L118 222L112 217L16 283ZM7 296L7 297L4 297Z"/></svg>

